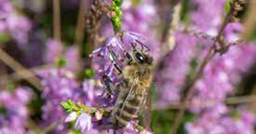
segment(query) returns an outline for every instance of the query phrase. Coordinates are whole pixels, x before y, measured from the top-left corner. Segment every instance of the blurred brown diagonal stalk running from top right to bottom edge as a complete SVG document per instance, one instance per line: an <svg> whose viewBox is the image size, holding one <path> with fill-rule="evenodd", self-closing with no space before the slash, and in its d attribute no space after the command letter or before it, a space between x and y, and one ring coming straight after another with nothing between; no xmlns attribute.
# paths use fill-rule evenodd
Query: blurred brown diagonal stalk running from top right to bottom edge
<svg viewBox="0 0 256 134"><path fill-rule="evenodd" d="M226 25L228 25L230 22L234 21L234 19L231 19L231 18L234 17L234 15L236 15L237 12L240 12L243 9L242 7L240 7L241 4L244 4L244 0L235 0L232 3L231 10L227 14L227 16L225 16L225 20L223 21L222 25L220 26L218 35L216 36L216 39L214 40L211 48L206 53L205 58L203 58L201 65L198 67L197 73L194 74L192 81L189 81L187 83L187 85L184 86L184 90L187 90L187 93L184 95L183 102L181 103L180 109L177 113L177 118L175 118L175 120L173 122L173 126L172 126L170 134L174 134L177 132L178 127L180 126L180 124L183 120L183 116L185 114L187 105L189 104L188 100L192 98L192 95L195 92L195 88L193 88L193 87L196 84L196 82L203 75L204 70L205 70L206 66L208 65L208 63L211 61L212 58L214 58L214 56L217 53L224 54L229 50L231 45L225 44L225 41L223 39L223 32L225 30ZM234 13L234 12L236 12L236 13Z"/></svg>

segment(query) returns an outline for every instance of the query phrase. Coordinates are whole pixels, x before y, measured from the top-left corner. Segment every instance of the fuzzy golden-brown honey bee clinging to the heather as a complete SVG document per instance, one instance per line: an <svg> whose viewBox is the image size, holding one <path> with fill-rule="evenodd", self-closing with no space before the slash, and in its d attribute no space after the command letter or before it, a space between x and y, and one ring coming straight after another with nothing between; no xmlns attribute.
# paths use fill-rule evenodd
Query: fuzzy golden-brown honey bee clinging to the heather
<svg viewBox="0 0 256 134"><path fill-rule="evenodd" d="M113 87L111 80L103 76L110 94L117 94L116 104L111 113L117 127L124 128L130 121L140 119L140 125L149 128L151 122L150 85L153 79L153 58L144 49L133 47L132 54L125 53L126 66L121 69L116 54L108 49L112 64L121 75L121 81ZM115 90L113 90L115 89Z"/></svg>

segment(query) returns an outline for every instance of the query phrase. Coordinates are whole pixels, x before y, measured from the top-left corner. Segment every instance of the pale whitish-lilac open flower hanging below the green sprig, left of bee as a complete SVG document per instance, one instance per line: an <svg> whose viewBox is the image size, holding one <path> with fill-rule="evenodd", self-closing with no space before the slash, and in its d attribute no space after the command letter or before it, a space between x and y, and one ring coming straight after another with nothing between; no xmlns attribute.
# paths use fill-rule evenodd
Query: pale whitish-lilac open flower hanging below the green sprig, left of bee
<svg viewBox="0 0 256 134"><path fill-rule="evenodd" d="M92 128L92 117L88 113L81 113L74 127L80 129L82 132L85 130L89 131Z"/></svg>

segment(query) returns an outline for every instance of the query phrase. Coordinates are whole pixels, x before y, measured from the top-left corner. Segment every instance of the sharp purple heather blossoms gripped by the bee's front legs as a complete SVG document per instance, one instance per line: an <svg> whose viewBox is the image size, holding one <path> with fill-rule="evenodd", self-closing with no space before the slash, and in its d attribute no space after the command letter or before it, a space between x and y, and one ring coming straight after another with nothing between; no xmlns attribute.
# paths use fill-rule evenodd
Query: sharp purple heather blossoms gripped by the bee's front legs
<svg viewBox="0 0 256 134"><path fill-rule="evenodd" d="M145 44L145 38L135 32L124 31L122 39L117 35L111 36L104 46L92 52L92 67L97 70L98 74L105 74L110 76L112 81L116 81L109 49L116 54L117 63L121 64L121 61L125 58L124 51L129 53L133 45L144 49L148 48Z"/></svg>

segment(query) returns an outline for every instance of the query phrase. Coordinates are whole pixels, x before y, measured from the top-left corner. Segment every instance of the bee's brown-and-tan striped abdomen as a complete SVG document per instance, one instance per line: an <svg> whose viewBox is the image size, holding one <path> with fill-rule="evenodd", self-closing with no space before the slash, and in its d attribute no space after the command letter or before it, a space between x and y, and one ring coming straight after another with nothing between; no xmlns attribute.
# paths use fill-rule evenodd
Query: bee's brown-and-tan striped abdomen
<svg viewBox="0 0 256 134"><path fill-rule="evenodd" d="M135 95L134 99L130 99L120 105L120 109L117 110L115 115L116 121L120 127L126 127L131 119L137 118L141 98L141 95Z"/></svg>

